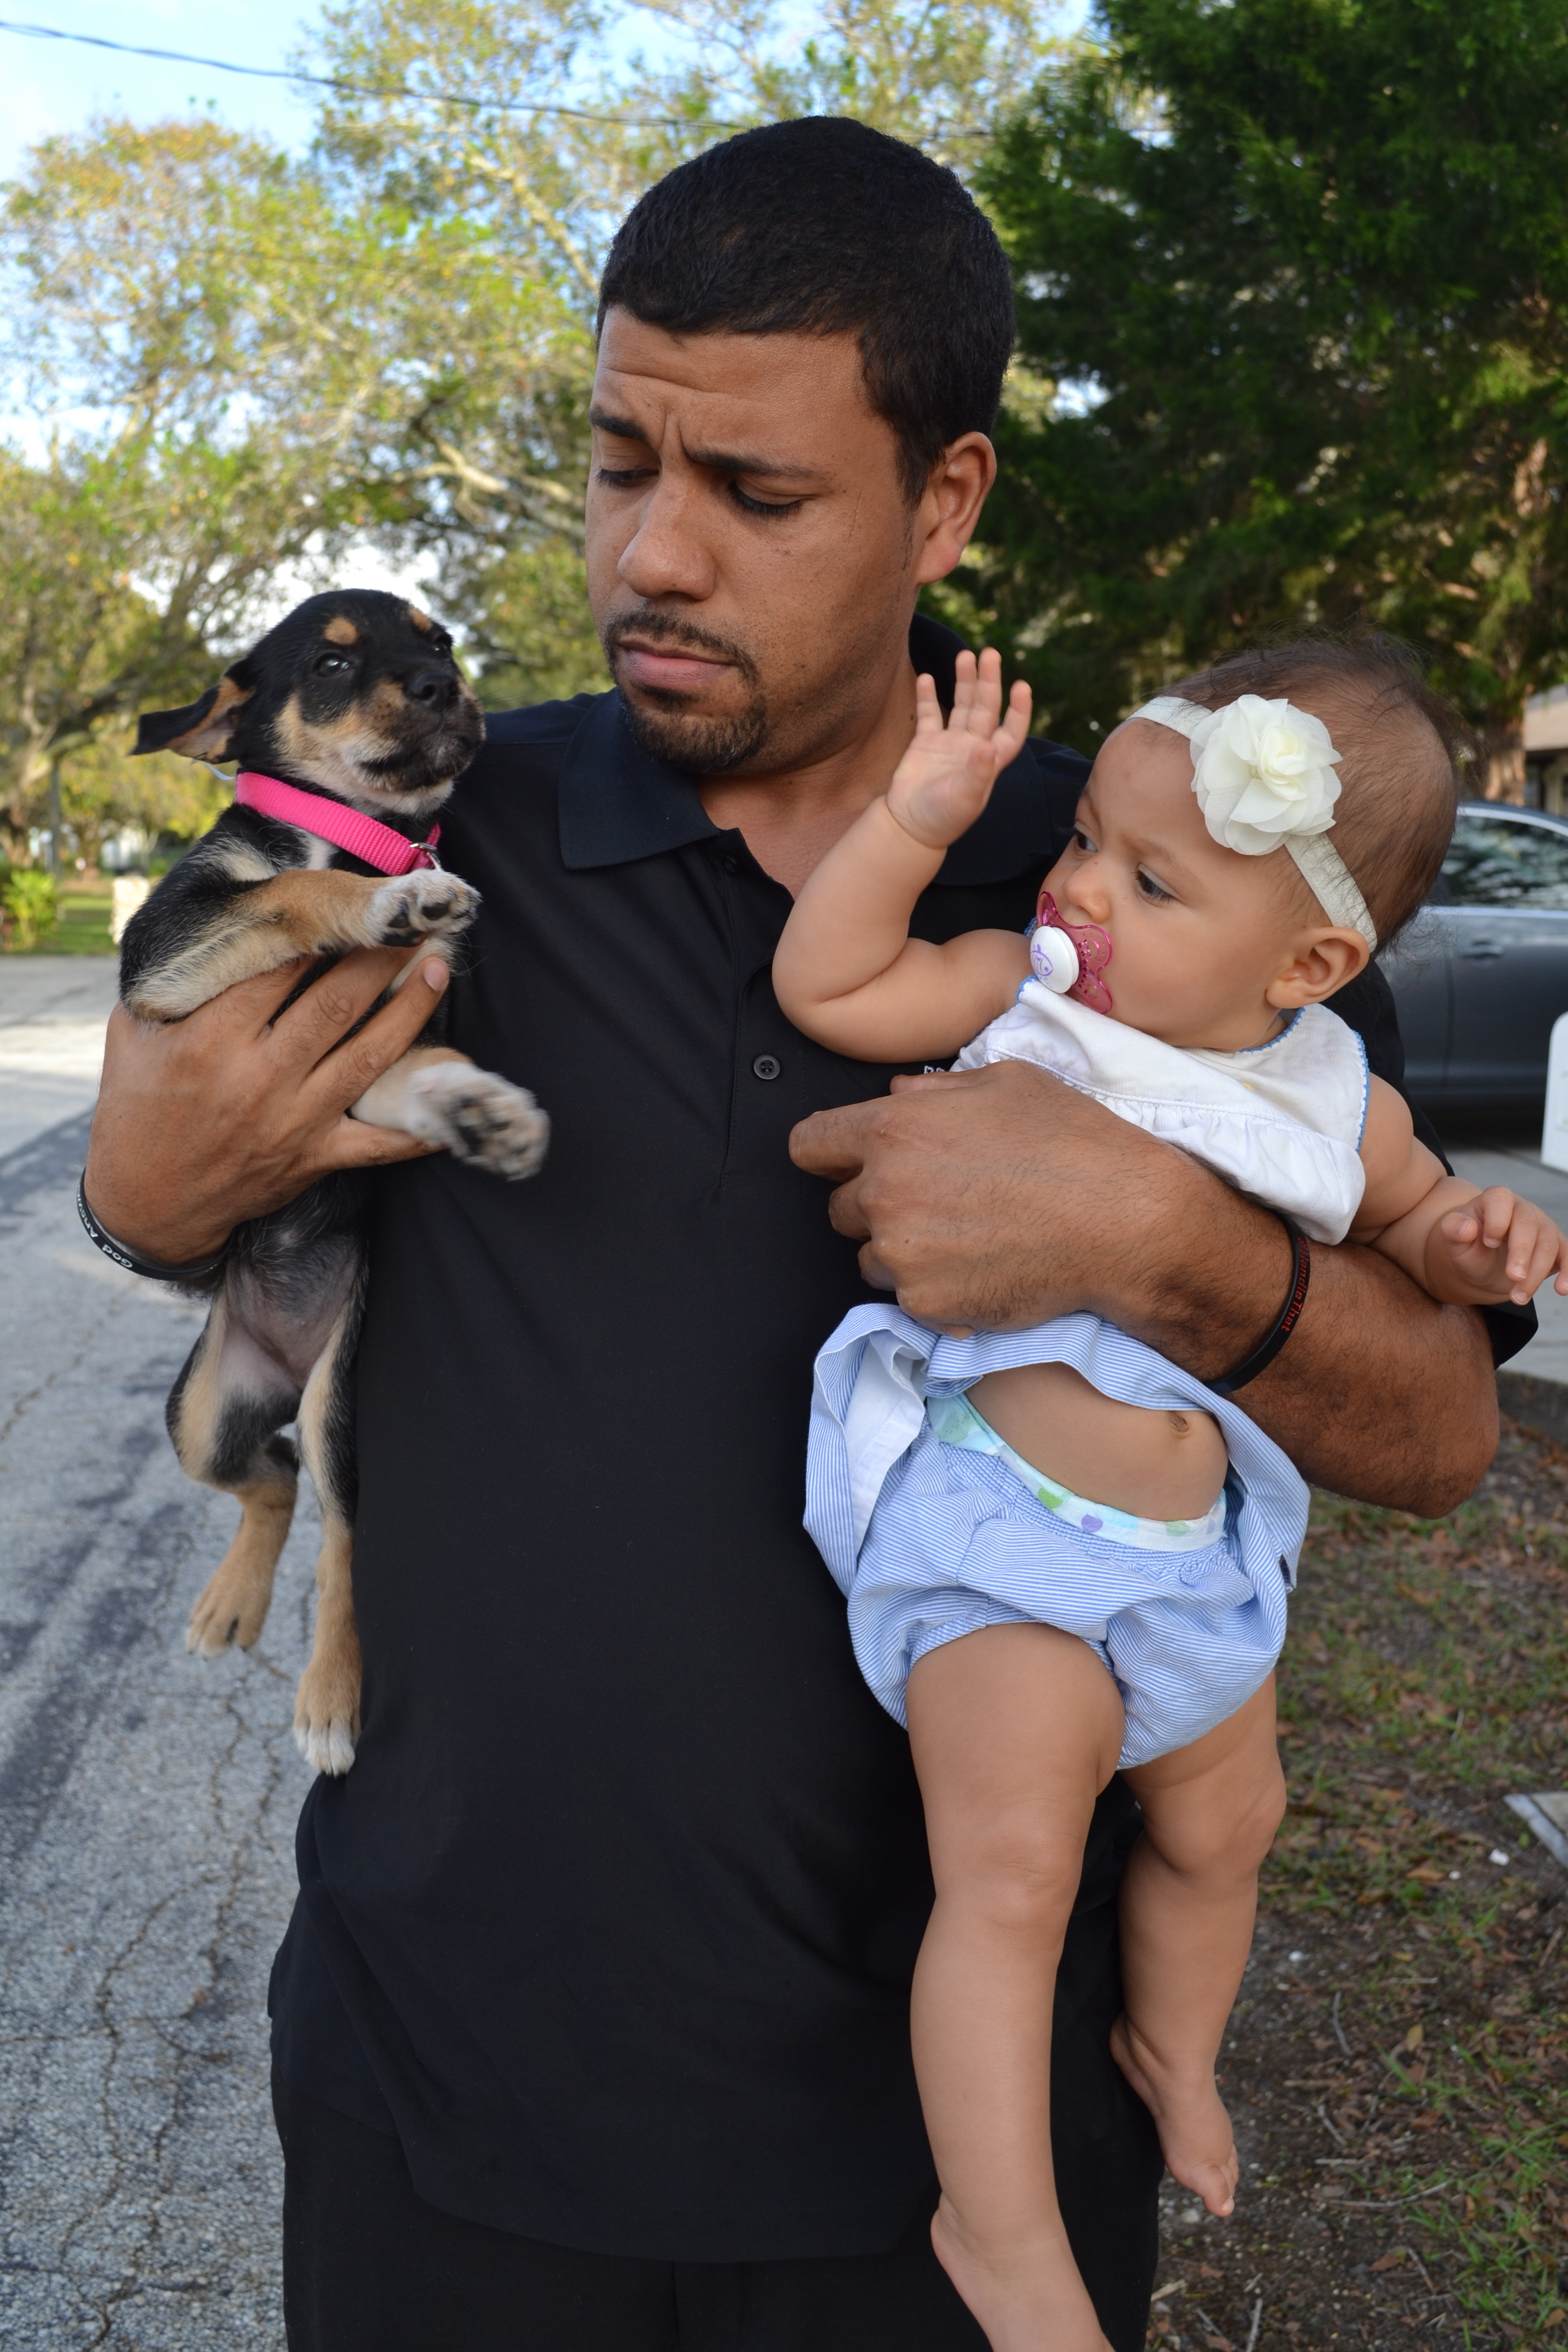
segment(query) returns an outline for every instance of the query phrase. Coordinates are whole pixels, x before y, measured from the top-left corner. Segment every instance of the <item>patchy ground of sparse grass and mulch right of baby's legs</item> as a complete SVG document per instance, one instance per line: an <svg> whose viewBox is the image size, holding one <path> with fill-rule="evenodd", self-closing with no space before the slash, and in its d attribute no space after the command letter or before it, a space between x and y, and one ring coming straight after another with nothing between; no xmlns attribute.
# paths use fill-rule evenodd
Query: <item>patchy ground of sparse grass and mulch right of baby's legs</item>
<svg viewBox="0 0 1568 2352"><path fill-rule="evenodd" d="M1425 1522L1316 1498L1291 1813L1222 2058L1244 2194L1166 2183L1161 2352L1568 2352L1568 1454ZM1502 1858L1500 1858L1502 1856Z"/></svg>

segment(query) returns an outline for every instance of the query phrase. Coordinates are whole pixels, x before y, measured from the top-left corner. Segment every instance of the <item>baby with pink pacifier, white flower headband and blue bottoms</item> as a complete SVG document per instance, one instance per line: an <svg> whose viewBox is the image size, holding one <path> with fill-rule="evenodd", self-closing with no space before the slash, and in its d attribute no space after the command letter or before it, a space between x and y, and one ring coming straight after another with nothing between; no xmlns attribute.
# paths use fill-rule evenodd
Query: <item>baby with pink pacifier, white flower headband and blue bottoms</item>
<svg viewBox="0 0 1568 2352"><path fill-rule="evenodd" d="M1568 1291L1556 1225L1446 1176L1324 1002L1418 910L1453 830L1458 729L1401 656L1244 654L1147 703L1095 760L1032 938L931 946L914 903L1027 734L1027 689L999 722L999 680L964 654L947 724L919 680L886 797L785 927L790 1021L865 1061L961 1047L959 1068L1034 1061L1098 1096L1281 1214L1295 1310L1307 1237L1366 1242L1441 1301L1526 1301L1554 1270ZM1307 1522L1229 1404L1267 1355L1213 1390L1093 1315L938 1334L875 1305L818 1357L806 1524L910 1726L936 1875L912 1997L933 2239L997 2352L1107 2352L1056 2204L1048 2058L1117 1769L1145 1837L1114 2056L1173 2176L1232 2211L1213 2067L1284 1813L1272 1672Z"/></svg>

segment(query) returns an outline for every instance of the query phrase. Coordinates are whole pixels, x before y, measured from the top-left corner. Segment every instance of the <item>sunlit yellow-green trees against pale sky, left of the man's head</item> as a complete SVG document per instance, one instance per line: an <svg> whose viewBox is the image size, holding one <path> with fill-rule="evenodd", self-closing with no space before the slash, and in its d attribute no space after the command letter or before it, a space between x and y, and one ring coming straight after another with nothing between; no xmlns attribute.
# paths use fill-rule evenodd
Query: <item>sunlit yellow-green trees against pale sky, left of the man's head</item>
<svg viewBox="0 0 1568 2352"><path fill-rule="evenodd" d="M969 165L1051 54L1025 0L830 0L799 54L757 0L656 14L661 61L611 73L616 12L588 0L339 0L310 66L388 96L324 92L303 160L209 120L101 122L0 191L0 358L35 426L0 449L14 854L56 764L82 837L141 816L167 764L115 762L125 720L367 543L437 567L489 701L597 689L585 407L628 205L818 106ZM165 823L197 818L165 795Z"/></svg>

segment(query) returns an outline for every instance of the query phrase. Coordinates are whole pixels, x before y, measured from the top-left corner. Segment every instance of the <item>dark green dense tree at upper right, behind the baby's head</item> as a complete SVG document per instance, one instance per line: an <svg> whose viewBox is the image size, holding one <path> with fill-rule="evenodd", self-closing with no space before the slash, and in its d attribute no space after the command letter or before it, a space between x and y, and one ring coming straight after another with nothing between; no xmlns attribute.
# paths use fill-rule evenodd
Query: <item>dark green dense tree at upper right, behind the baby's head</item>
<svg viewBox="0 0 1568 2352"><path fill-rule="evenodd" d="M1103 31L978 174L1037 414L957 609L1081 743L1248 637L1375 621L1519 797L1523 701L1568 668L1561 0L1105 0Z"/></svg>

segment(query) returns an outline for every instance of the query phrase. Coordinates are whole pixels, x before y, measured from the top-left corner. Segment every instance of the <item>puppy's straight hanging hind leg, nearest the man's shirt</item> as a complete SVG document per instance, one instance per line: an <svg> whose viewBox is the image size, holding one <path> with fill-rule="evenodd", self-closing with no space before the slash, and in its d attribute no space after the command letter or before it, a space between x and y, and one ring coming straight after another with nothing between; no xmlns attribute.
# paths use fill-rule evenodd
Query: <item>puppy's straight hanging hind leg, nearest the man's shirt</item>
<svg viewBox="0 0 1568 2352"><path fill-rule="evenodd" d="M348 1374L360 1338L364 1275L355 1282L299 1406L299 1449L322 1505L315 1564L315 1644L294 1698L294 1740L313 1771L343 1773L360 1738L360 1628L353 1588L357 1468Z"/></svg>

